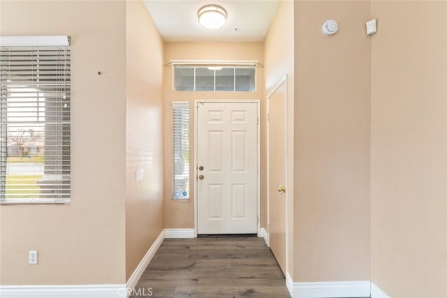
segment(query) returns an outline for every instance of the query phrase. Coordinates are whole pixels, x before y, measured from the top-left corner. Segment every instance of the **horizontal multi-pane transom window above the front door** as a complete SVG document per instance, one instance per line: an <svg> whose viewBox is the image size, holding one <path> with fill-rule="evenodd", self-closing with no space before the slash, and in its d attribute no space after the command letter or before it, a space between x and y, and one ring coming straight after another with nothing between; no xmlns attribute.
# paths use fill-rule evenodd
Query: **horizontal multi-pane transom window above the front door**
<svg viewBox="0 0 447 298"><path fill-rule="evenodd" d="M173 68L175 91L256 91L255 66Z"/></svg>

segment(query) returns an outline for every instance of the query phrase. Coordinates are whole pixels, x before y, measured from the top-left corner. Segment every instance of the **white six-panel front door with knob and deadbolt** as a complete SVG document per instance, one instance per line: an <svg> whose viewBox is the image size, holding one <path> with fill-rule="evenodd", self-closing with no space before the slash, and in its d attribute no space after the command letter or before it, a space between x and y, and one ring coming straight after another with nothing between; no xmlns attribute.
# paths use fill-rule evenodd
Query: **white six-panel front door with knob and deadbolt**
<svg viewBox="0 0 447 298"><path fill-rule="evenodd" d="M197 232L258 230L258 103L198 102Z"/></svg>

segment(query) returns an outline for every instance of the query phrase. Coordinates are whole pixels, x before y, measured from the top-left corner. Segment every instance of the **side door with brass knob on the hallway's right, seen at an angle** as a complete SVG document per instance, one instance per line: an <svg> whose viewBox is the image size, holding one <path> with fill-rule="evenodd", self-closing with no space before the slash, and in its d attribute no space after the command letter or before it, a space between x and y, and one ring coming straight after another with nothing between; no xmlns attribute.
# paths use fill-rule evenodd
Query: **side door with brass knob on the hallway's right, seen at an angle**
<svg viewBox="0 0 447 298"><path fill-rule="evenodd" d="M269 242L279 267L286 272L286 83L268 98ZM287 190L285 190L287 191Z"/></svg>

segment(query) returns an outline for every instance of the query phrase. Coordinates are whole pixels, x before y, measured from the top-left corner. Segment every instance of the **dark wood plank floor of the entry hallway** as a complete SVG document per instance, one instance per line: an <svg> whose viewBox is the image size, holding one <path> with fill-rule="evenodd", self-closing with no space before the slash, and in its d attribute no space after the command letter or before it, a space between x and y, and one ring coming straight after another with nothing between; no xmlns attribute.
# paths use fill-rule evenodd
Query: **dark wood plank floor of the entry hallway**
<svg viewBox="0 0 447 298"><path fill-rule="evenodd" d="M165 239L132 297L290 297L270 248L257 237ZM146 296L144 296L146 295Z"/></svg>

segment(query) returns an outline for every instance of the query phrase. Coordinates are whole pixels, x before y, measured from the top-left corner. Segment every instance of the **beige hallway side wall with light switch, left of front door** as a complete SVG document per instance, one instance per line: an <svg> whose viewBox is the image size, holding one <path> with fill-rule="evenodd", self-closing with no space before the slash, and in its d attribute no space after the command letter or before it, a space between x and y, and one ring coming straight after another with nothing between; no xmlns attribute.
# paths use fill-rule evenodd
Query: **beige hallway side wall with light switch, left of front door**
<svg viewBox="0 0 447 298"><path fill-rule="evenodd" d="M126 279L163 230L163 40L126 2ZM142 169L143 179L135 181Z"/></svg>

